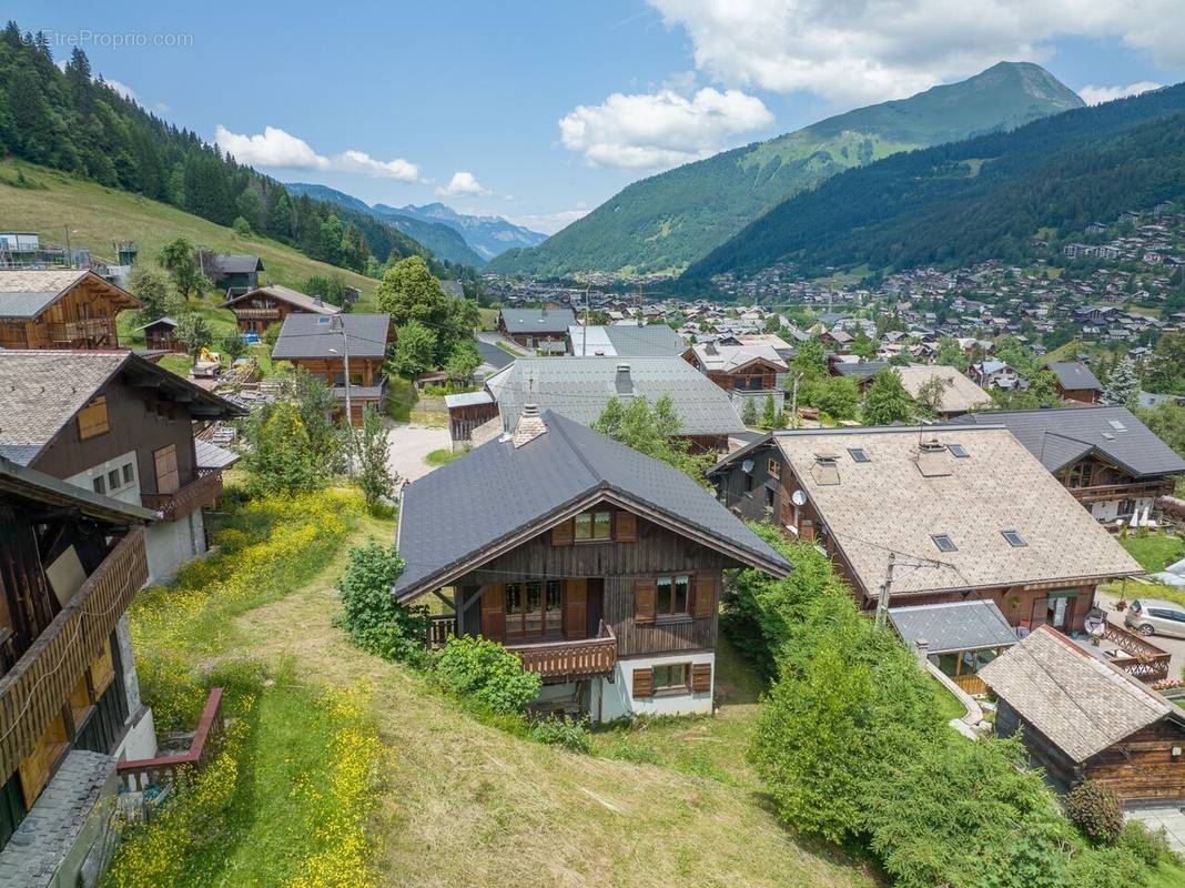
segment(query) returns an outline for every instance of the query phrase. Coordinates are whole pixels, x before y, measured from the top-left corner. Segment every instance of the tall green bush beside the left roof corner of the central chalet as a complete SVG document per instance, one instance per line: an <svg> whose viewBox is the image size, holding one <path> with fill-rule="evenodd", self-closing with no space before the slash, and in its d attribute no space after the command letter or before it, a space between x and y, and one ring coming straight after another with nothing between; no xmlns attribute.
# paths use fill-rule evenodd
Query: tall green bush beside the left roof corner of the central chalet
<svg viewBox="0 0 1185 888"><path fill-rule="evenodd" d="M339 624L364 651L387 660L419 663L424 658L428 612L404 607L391 595L403 573L395 547L371 541L350 550L346 573L338 580L344 612Z"/></svg>

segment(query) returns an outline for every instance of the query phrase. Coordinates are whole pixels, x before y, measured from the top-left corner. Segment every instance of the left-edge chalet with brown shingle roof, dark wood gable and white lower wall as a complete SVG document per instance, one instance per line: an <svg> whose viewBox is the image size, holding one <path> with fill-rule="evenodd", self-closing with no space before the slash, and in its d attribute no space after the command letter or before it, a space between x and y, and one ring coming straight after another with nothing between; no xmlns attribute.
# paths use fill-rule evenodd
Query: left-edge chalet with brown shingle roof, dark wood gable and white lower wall
<svg viewBox="0 0 1185 888"><path fill-rule="evenodd" d="M158 513L148 571L171 576L206 550L201 510L222 472L201 471L194 423L242 408L132 352L0 351L0 455Z"/></svg>

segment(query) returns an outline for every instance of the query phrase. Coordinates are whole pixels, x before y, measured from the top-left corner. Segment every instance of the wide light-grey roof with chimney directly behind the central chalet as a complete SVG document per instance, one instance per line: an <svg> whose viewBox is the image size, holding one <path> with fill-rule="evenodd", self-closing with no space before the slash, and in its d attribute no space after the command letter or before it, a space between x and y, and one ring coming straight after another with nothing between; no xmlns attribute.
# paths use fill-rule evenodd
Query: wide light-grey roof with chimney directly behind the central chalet
<svg viewBox="0 0 1185 888"><path fill-rule="evenodd" d="M486 386L498 400L504 428L513 427L526 401L591 426L609 398L620 396L619 364L629 365L635 397L653 404L662 395L671 396L683 419L683 434L744 430L728 394L683 358L519 358L491 376Z"/></svg>

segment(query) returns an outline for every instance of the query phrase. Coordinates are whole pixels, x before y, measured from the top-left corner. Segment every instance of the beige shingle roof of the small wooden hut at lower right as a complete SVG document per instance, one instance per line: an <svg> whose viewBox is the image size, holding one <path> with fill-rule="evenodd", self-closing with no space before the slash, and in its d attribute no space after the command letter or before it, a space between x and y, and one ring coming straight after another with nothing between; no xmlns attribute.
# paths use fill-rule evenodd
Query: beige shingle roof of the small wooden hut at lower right
<svg viewBox="0 0 1185 888"><path fill-rule="evenodd" d="M1075 762L1174 713L1151 688L1040 626L979 677Z"/></svg>

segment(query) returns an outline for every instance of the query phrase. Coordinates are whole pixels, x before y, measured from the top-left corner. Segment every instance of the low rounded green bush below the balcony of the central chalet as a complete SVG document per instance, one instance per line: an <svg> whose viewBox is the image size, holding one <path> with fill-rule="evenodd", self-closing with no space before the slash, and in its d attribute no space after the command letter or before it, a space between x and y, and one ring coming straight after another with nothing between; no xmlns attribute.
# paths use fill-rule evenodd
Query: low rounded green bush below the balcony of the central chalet
<svg viewBox="0 0 1185 888"><path fill-rule="evenodd" d="M543 679L497 641L450 638L436 658L436 683L499 715L523 713L539 694Z"/></svg>

